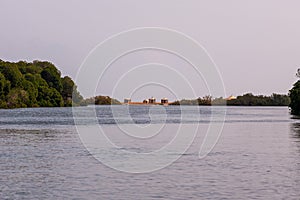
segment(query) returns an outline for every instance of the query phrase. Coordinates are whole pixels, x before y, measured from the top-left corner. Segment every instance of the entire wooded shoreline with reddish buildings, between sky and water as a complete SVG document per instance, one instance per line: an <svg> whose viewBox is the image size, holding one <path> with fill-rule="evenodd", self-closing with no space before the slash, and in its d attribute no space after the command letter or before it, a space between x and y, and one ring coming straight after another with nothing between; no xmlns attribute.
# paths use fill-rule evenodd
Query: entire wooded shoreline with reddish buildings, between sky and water
<svg viewBox="0 0 300 200"><path fill-rule="evenodd" d="M48 61L7 62L0 60L0 108L26 107L69 107L86 105L228 105L228 106L291 106L293 114L300 111L298 81L290 91L290 97L285 94L271 96L253 95L230 96L228 98L213 98L212 96L197 99L182 99L169 102L163 98L156 102L151 97L142 102L132 102L124 99L120 102L109 96L95 96L84 99L74 81L68 76L61 76L61 72ZM299 108L298 108L298 107ZM295 107L295 108L294 108ZM300 113L300 112L299 112ZM298 113L298 114L299 114Z"/></svg>

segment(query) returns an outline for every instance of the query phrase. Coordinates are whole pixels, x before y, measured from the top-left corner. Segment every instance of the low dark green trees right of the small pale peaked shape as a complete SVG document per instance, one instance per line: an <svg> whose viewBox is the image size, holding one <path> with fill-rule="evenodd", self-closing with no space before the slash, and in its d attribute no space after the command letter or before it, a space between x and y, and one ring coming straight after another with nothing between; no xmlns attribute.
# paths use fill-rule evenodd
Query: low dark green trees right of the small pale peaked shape
<svg viewBox="0 0 300 200"><path fill-rule="evenodd" d="M238 96L237 99L227 101L229 106L288 106L288 95L272 94L271 96L253 95L251 93Z"/></svg>

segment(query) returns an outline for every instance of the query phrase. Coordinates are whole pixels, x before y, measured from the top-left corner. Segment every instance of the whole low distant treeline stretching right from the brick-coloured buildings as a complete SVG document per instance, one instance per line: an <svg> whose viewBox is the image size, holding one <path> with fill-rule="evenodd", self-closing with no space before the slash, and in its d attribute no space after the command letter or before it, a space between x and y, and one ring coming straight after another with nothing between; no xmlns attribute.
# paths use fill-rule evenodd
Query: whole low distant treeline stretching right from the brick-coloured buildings
<svg viewBox="0 0 300 200"><path fill-rule="evenodd" d="M300 83L299 83L300 84ZM238 96L236 99L226 100L222 97L212 96L199 97L197 99L183 99L170 103L170 105L228 105L228 106L288 106L290 98L284 94L272 94L271 96L253 95L251 93Z"/></svg>

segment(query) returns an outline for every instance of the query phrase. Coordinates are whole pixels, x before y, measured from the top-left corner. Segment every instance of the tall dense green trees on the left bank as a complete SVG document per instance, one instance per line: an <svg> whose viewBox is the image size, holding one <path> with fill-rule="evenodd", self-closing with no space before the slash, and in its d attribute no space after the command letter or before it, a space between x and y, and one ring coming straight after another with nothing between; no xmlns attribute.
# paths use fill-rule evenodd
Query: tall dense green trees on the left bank
<svg viewBox="0 0 300 200"><path fill-rule="evenodd" d="M80 105L82 96L73 80L50 62L0 60L0 108Z"/></svg>

